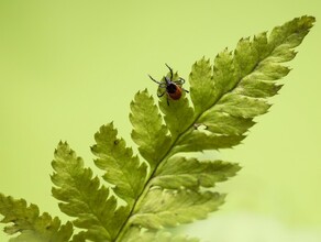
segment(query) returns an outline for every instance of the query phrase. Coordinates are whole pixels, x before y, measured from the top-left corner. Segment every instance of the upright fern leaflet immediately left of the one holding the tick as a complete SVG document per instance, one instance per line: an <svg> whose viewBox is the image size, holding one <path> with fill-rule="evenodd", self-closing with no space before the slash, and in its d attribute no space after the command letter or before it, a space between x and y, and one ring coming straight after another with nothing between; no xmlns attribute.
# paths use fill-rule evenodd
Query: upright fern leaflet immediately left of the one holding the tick
<svg viewBox="0 0 321 242"><path fill-rule="evenodd" d="M133 124L132 139L140 146L141 155L153 169L170 146L168 129L147 90L137 92L131 103L130 120Z"/></svg>

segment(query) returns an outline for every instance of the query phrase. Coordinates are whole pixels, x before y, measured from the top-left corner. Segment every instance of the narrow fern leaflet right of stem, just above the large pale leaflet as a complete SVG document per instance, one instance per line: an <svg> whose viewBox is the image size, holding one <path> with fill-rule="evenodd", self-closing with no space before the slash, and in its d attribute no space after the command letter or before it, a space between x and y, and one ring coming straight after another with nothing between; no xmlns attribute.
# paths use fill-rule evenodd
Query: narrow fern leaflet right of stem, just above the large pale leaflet
<svg viewBox="0 0 321 242"><path fill-rule="evenodd" d="M215 183L235 176L240 169L237 164L229 162L200 162L197 158L174 156L157 170L152 184L168 189L214 187Z"/></svg>

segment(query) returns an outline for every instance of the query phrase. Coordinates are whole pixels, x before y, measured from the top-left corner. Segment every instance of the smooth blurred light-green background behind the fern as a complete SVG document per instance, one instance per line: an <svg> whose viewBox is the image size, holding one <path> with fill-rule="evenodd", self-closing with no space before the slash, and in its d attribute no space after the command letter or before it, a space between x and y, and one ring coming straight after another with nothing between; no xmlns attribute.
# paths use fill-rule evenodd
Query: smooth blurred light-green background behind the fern
<svg viewBox="0 0 321 242"><path fill-rule="evenodd" d="M243 166L218 187L226 204L182 230L204 241L320 242L318 0L0 0L0 193L66 220L51 195L59 140L92 166L100 125L114 121L133 145L129 103L144 88L155 95L147 74L160 78L168 63L187 78L203 55L303 14L317 24L287 64L292 72L270 112L242 145L217 153Z"/></svg>

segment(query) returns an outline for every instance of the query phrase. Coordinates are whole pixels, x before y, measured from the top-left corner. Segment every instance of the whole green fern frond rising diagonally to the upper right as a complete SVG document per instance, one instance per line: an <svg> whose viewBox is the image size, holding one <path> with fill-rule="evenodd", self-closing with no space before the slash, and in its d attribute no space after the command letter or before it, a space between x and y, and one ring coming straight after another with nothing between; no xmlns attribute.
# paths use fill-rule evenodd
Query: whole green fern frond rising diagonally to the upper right
<svg viewBox="0 0 321 242"><path fill-rule="evenodd" d="M267 99L283 86L277 80L290 72L281 63L296 56L294 48L313 22L313 16L297 18L269 35L264 32L240 40L235 51L224 50L213 64L201 58L192 65L189 95L181 90L170 105L166 95L157 107L146 89L137 92L131 102L130 120L140 158L118 138L112 123L102 125L95 135L95 164L104 172L108 187L67 143L60 142L52 162L52 193L60 210L75 218L73 223L62 226L58 218L40 215L35 205L0 194L1 222L13 223L4 231L20 232L10 241L67 242L73 224L80 231L71 242L198 241L160 229L204 219L215 211L225 195L209 188L234 176L241 167L215 158L182 157L181 153L240 144L254 119L270 108ZM171 69L166 81L159 82L159 88L170 82L178 84L174 87L180 90L184 82ZM118 198L125 205L120 206Z"/></svg>

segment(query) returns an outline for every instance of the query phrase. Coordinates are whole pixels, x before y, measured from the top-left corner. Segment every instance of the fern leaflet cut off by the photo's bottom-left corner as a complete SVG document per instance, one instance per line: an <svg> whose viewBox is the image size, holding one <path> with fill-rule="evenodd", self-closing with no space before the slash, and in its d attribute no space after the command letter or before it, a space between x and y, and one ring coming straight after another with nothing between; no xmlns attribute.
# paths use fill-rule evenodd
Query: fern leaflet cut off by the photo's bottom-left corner
<svg viewBox="0 0 321 242"><path fill-rule="evenodd" d="M0 194L0 215L4 218L1 223L13 223L4 228L8 234L20 233L10 239L12 242L66 242L73 234L73 224L60 224L60 220L54 219L46 212L40 216L37 206L26 205L24 199L13 199Z"/></svg>

